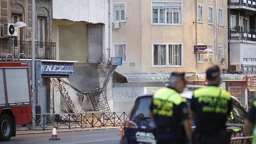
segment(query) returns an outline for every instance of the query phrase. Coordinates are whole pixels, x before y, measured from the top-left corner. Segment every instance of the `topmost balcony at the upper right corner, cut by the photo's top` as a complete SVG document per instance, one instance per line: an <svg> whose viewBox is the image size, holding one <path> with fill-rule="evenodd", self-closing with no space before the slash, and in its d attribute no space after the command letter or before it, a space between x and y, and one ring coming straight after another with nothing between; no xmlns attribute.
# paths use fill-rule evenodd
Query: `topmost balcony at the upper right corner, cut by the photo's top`
<svg viewBox="0 0 256 144"><path fill-rule="evenodd" d="M230 0L230 9L256 11L256 0Z"/></svg>

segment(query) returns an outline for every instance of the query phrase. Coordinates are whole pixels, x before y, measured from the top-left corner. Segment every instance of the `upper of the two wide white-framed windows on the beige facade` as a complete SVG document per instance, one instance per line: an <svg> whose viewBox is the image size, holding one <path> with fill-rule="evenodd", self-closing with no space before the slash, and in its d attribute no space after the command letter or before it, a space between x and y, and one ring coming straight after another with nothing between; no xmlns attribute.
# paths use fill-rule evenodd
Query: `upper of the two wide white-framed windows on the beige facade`
<svg viewBox="0 0 256 144"><path fill-rule="evenodd" d="M152 2L152 24L182 24L181 2Z"/></svg>

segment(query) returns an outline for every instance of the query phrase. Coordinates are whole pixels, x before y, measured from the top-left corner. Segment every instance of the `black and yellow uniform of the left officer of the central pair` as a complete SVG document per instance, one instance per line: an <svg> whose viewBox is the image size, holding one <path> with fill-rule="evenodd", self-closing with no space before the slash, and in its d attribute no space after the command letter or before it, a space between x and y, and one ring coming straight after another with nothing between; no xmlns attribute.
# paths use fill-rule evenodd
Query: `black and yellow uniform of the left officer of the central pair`
<svg viewBox="0 0 256 144"><path fill-rule="evenodd" d="M189 118L186 99L169 87L158 90L152 99L150 110L156 124L158 144L184 144L183 120Z"/></svg>

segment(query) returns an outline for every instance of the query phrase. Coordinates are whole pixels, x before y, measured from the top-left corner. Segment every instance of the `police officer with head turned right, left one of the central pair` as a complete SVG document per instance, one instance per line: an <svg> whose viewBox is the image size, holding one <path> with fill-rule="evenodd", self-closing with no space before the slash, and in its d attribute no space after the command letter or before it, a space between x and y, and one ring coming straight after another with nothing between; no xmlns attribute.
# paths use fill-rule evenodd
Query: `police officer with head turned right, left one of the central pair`
<svg viewBox="0 0 256 144"><path fill-rule="evenodd" d="M183 92L187 81L185 73L171 73L169 85L158 90L152 99L150 116L156 124L158 144L184 144L185 132L191 140L191 122ZM185 127L182 131L182 125ZM182 134L183 135L182 135Z"/></svg>

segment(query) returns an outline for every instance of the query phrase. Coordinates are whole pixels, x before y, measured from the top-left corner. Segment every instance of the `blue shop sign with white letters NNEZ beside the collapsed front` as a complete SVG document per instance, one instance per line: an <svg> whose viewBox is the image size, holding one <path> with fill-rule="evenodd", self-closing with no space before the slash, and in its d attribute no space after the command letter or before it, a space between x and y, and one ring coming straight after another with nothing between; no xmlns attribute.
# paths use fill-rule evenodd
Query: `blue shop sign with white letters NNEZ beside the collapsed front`
<svg viewBox="0 0 256 144"><path fill-rule="evenodd" d="M74 63L41 61L42 74L74 74Z"/></svg>

